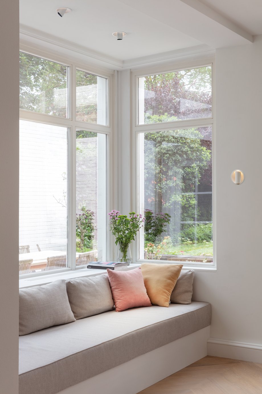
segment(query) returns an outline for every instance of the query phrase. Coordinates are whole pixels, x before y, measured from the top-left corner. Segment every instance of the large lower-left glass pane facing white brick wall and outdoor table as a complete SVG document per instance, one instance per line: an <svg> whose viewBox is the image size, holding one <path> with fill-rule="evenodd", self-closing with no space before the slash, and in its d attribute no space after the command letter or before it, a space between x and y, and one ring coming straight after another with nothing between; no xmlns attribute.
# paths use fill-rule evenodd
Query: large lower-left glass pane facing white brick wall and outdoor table
<svg viewBox="0 0 262 394"><path fill-rule="evenodd" d="M67 134L20 121L20 274L66 267Z"/></svg>

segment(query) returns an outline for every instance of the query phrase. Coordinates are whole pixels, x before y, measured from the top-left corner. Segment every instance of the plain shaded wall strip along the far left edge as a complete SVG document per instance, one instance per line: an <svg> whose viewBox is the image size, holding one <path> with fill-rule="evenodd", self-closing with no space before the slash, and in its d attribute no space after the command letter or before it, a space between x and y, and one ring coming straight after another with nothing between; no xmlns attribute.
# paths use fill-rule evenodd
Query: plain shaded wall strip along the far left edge
<svg viewBox="0 0 262 394"><path fill-rule="evenodd" d="M18 393L19 3L0 13L0 392ZM11 49L11 50L10 50Z"/></svg>

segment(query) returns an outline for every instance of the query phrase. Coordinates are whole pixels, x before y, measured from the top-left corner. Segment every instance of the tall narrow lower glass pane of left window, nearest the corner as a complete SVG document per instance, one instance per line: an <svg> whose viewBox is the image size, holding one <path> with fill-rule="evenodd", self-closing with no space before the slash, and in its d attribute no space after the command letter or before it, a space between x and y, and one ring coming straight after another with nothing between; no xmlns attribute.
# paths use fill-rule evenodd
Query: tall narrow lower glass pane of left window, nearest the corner
<svg viewBox="0 0 262 394"><path fill-rule="evenodd" d="M106 134L76 132L76 265L106 260Z"/></svg>

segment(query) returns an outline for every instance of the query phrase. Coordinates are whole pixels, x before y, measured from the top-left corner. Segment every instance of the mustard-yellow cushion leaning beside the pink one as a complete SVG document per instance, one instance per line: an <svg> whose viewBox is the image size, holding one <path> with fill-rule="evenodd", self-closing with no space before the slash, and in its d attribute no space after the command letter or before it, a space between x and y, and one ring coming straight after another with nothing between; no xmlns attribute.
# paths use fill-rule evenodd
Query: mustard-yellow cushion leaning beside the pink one
<svg viewBox="0 0 262 394"><path fill-rule="evenodd" d="M145 288L153 305L169 307L170 296L182 264L141 264Z"/></svg>

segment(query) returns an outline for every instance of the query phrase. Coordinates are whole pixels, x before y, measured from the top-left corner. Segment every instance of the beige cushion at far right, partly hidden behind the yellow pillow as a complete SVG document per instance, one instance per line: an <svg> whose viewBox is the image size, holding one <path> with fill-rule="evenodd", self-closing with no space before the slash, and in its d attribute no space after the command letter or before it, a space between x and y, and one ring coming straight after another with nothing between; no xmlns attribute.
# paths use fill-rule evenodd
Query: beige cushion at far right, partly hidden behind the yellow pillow
<svg viewBox="0 0 262 394"><path fill-rule="evenodd" d="M191 304L194 273L194 269L181 271L176 281L176 286L170 296L170 302L172 304Z"/></svg>

